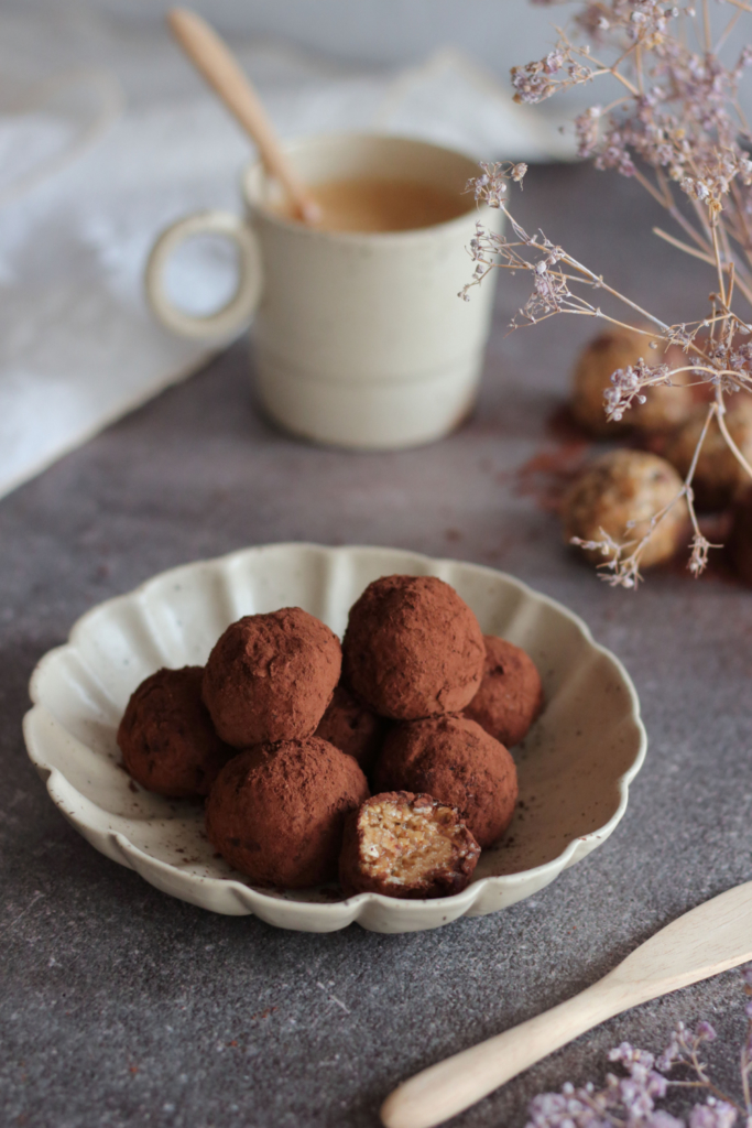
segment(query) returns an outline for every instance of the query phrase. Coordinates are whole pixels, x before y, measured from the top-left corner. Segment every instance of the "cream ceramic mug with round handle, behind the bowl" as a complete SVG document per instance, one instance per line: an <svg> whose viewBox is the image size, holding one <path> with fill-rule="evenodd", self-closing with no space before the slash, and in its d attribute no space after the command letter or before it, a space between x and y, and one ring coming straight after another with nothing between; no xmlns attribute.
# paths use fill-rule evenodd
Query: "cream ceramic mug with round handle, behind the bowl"
<svg viewBox="0 0 752 1128"><path fill-rule="evenodd" d="M372 134L311 136L285 146L308 184L350 177L424 180L461 192L478 166L423 141ZM147 294L160 320L191 337L229 337L254 315L262 402L283 428L316 442L371 450L431 442L472 407L488 337L493 284L458 297L472 264L475 206L433 227L395 232L307 228L271 210L280 188L260 164L242 176L245 220L201 212L157 240ZM238 287L207 317L178 309L163 284L186 238L220 232L238 246Z"/></svg>

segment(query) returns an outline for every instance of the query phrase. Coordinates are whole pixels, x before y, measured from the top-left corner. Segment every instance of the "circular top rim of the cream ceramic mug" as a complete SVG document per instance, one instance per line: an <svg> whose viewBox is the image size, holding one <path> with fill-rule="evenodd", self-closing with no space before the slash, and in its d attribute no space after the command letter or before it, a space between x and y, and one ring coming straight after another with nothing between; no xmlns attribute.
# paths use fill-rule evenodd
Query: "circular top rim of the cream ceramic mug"
<svg viewBox="0 0 752 1128"><path fill-rule="evenodd" d="M466 161L468 166L478 168L478 161L468 156L468 153L461 152L459 149L436 144L433 141L425 141L423 138L412 138L398 133L372 133L366 130L342 130L331 131L330 133L301 134L299 136L283 139L282 148L287 150L308 144L312 147L326 141L344 142L346 140L404 142L410 147L431 149L434 152L457 157L460 160ZM467 224L467 221L474 211L480 218L484 213L488 213L492 210L488 204L478 204L472 201L470 202L467 211L461 212L459 215L454 215L452 219L442 220L440 223L430 223L425 227L405 228L400 231L330 231L324 228L307 227L304 223L299 221L285 219L277 212L264 208L262 204L249 197L247 191L249 177L262 166L263 161L260 157L256 156L244 165L240 173L240 194L247 214L254 220L263 219L264 222L269 223L272 227L281 228L285 231L294 231L295 235L301 238L330 239L338 243L364 241L380 245L388 243L408 243L409 240L424 240L434 237L437 231L452 231L454 228L459 231L460 228Z"/></svg>

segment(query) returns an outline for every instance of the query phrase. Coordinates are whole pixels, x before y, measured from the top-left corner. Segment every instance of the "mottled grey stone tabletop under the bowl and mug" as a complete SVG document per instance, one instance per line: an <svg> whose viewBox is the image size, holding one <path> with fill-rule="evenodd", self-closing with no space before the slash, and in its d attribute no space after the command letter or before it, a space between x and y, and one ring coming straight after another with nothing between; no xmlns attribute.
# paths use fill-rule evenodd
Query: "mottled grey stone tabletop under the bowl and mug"
<svg viewBox="0 0 752 1128"><path fill-rule="evenodd" d="M520 212L669 318L713 279L648 233L634 184L541 168ZM752 878L752 592L681 570L614 592L521 491L555 449L582 319L505 336L504 281L478 411L422 450L353 456L257 413L245 345L0 504L0 1122L30 1128L371 1128L416 1069L552 1006L660 926ZM116 373L112 373L116 379ZM275 931L172 900L65 823L20 732L34 663L91 605L171 565L273 540L399 545L505 569L582 615L625 661L648 759L626 818L531 900L437 932ZM602 1078L622 1039L662 1048L707 1016L735 1086L728 972L584 1036L457 1119L524 1123L530 1098Z"/></svg>

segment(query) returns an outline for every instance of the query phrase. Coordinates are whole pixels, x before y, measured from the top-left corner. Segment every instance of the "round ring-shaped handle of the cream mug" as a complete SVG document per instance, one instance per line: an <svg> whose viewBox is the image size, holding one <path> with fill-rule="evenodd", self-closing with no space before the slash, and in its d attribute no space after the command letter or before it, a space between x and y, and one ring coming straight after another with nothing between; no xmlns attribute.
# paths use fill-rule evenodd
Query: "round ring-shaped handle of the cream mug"
<svg viewBox="0 0 752 1128"><path fill-rule="evenodd" d="M195 235L224 235L240 254L238 285L230 300L213 314L188 314L176 306L165 287L170 255ZM264 274L258 241L246 223L231 212L204 211L186 215L165 228L149 254L145 290L149 305L168 329L183 337L212 340L231 337L250 319L262 294Z"/></svg>

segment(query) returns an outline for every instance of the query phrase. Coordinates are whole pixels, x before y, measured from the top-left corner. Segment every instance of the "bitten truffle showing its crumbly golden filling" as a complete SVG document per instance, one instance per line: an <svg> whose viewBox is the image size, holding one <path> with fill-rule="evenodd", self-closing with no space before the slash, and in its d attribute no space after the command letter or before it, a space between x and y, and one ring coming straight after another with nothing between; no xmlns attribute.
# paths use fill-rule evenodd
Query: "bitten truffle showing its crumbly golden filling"
<svg viewBox="0 0 752 1128"><path fill-rule="evenodd" d="M451 897L469 884L479 855L454 808L391 791L347 816L339 883L348 897Z"/></svg>

